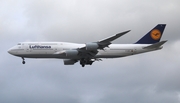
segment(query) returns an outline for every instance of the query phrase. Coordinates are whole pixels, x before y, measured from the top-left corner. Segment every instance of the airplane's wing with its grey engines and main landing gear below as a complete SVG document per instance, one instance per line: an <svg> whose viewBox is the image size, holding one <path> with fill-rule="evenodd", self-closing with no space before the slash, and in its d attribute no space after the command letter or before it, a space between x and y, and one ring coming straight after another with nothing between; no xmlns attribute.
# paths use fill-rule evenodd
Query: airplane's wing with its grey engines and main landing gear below
<svg viewBox="0 0 180 103"><path fill-rule="evenodd" d="M97 42L86 43L84 47L77 48L74 50L65 50L63 52L58 52L57 54L67 55L67 53L70 53L71 55L76 55L79 57L79 59L64 59L65 65L73 65L78 61L80 61L80 64L83 67L85 65L91 65L94 61L99 61L99 59L94 58L95 55L98 53L98 49L104 49L105 47L108 47L113 40L123 36L129 31L130 30L118 33L116 35L99 40Z"/></svg>

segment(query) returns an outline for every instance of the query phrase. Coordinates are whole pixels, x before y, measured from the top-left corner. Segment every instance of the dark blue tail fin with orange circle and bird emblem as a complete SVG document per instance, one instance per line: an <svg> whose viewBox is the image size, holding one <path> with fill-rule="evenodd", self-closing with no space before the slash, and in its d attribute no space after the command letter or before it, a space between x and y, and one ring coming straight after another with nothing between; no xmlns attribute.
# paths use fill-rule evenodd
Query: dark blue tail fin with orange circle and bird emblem
<svg viewBox="0 0 180 103"><path fill-rule="evenodd" d="M136 44L154 44L160 41L166 24L158 24L145 36L143 36Z"/></svg>

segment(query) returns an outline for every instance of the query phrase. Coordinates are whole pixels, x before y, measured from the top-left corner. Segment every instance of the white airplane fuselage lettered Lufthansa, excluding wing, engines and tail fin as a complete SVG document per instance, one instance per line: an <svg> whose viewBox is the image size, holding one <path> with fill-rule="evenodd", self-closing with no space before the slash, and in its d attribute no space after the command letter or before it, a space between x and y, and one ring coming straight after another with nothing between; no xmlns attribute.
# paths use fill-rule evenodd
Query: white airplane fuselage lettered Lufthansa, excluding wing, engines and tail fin
<svg viewBox="0 0 180 103"><path fill-rule="evenodd" d="M103 50L98 49L95 58L117 58L124 57L153 50L161 49L143 49L150 44L110 44ZM80 56L63 55L65 50L75 50L85 47L85 44L67 43L67 42L23 42L12 47L8 52L12 55L24 58L59 58L59 59L80 59Z"/></svg>

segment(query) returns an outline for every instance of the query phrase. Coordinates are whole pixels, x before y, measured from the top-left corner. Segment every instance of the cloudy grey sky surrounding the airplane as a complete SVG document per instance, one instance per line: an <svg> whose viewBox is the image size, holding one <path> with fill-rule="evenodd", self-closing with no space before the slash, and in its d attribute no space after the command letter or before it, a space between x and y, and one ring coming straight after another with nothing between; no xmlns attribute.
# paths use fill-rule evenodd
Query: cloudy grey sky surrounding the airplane
<svg viewBox="0 0 180 103"><path fill-rule="evenodd" d="M1 0L1 103L179 103L179 0ZM7 50L24 41L92 42L132 30L134 43L165 23L164 48L82 68L58 59L26 59Z"/></svg>

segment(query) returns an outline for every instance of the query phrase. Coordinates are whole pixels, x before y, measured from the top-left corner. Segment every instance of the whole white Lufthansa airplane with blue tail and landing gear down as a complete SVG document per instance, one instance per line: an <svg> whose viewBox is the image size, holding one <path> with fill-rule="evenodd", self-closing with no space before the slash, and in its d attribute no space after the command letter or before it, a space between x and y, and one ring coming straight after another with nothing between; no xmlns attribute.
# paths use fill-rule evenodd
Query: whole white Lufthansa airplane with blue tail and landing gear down
<svg viewBox="0 0 180 103"><path fill-rule="evenodd" d="M8 53L22 58L63 59L64 65L92 65L102 58L119 58L135 54L160 50L167 42L160 41L166 24L158 24L134 44L112 44L112 41L130 32L124 31L108 38L85 44L68 42L21 42L8 50Z"/></svg>

